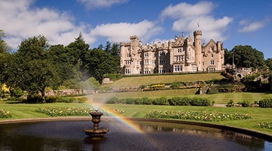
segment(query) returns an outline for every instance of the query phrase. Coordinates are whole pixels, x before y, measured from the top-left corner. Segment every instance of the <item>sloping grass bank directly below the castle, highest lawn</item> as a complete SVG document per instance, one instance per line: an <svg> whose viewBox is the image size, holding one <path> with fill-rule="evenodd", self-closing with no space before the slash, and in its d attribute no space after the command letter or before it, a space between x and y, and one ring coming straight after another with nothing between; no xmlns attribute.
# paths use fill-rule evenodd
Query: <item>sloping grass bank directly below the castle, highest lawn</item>
<svg viewBox="0 0 272 151"><path fill-rule="evenodd" d="M103 86L122 87L122 86L140 86L147 84L167 84L173 82L193 82L206 80L220 80L224 78L220 73L191 73L179 75L145 75L122 78L111 84Z"/></svg>

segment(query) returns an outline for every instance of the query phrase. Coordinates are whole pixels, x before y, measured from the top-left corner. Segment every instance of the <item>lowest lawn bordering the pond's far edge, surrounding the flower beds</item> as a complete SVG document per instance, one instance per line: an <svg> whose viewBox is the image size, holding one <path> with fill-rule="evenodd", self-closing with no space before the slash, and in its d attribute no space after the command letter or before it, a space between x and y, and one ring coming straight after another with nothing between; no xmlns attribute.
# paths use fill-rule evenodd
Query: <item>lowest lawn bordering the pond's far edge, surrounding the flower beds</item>
<svg viewBox="0 0 272 151"><path fill-rule="evenodd" d="M266 132L272 135L271 129L255 128L254 126L259 122L272 121L272 108L242 108L242 107L203 107L203 106L154 106L154 105L129 105L129 104L74 104L74 103L55 103L55 104L5 104L1 107L5 111L12 113L11 118L7 119L30 119L30 118L45 118L50 117L43 113L36 113L35 110L43 107L75 107L75 108L92 108L94 106L101 106L101 109L114 108L125 111L125 117L146 117L149 111L207 111L215 113L239 113L249 115L251 119L243 119L236 121L213 121L213 124L222 124L227 126L236 126L240 128L247 128ZM0 120L7 120L0 119Z"/></svg>

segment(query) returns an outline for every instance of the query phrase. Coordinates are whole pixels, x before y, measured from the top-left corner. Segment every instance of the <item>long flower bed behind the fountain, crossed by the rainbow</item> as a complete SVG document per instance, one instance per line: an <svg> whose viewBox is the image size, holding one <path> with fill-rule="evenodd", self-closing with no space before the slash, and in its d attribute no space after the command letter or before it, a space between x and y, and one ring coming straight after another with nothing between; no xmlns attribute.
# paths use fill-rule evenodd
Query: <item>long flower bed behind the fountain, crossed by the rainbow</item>
<svg viewBox="0 0 272 151"><path fill-rule="evenodd" d="M88 116L91 112L95 112L92 108L38 108L36 110L38 113L44 113L50 115L51 117L65 117L65 116ZM125 111L109 109L108 111L101 111L106 115L116 113L123 114Z"/></svg>

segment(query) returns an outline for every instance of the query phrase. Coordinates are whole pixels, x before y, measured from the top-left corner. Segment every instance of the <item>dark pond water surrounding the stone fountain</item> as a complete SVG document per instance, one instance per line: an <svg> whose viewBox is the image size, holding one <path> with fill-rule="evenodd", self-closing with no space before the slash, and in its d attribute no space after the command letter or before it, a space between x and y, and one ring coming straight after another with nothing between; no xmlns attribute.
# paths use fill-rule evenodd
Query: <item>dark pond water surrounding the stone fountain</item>
<svg viewBox="0 0 272 151"><path fill-rule="evenodd" d="M0 150L272 150L272 143L237 132L154 121L133 121L141 132L116 119L102 119L105 137L90 138L92 122L34 121L0 124Z"/></svg>

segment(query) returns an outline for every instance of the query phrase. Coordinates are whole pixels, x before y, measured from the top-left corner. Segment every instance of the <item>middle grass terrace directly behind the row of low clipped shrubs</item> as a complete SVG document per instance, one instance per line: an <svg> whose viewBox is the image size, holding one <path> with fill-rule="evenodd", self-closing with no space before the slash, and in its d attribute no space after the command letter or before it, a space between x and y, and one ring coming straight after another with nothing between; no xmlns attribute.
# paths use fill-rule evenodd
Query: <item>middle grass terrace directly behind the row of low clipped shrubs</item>
<svg viewBox="0 0 272 151"><path fill-rule="evenodd" d="M90 96L90 100L94 101L106 101L110 97L203 97L211 101L214 101L216 104L227 104L229 100L238 103L242 101L258 101L266 98L272 98L272 93L216 93L208 95L195 95L198 89L176 89L176 90L167 90L167 91L138 91L138 92L123 92L123 93L98 93Z"/></svg>

